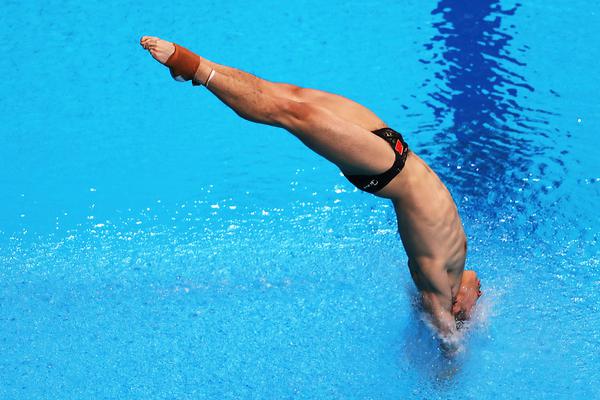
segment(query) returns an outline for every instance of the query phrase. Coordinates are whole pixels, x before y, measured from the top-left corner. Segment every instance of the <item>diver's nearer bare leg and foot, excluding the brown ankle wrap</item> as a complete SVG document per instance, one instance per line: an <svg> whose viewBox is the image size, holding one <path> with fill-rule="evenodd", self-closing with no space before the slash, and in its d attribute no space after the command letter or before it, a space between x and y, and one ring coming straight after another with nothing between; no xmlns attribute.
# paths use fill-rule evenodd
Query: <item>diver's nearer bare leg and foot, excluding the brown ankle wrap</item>
<svg viewBox="0 0 600 400"><path fill-rule="evenodd" d="M173 53L171 43L163 40L148 43L145 39L142 38L142 45L158 61L166 62ZM206 82L212 70L210 65L200 62L194 78ZM249 74L228 75L217 71L209 90L241 117L292 132L347 174L380 174L393 164L394 152L383 139L326 108L278 97L264 90L261 81Z"/></svg>

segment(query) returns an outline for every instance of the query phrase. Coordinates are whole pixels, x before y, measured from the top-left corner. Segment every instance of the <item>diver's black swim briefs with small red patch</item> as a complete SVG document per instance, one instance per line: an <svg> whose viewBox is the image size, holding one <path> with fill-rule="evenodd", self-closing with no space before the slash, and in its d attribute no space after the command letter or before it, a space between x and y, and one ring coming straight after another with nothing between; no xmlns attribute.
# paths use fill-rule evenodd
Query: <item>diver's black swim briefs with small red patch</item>
<svg viewBox="0 0 600 400"><path fill-rule="evenodd" d="M381 128L373 133L384 139L394 150L396 160L390 169L379 175L346 175L344 176L357 188L369 193L383 189L404 168L408 156L408 145L402 135L391 128Z"/></svg>

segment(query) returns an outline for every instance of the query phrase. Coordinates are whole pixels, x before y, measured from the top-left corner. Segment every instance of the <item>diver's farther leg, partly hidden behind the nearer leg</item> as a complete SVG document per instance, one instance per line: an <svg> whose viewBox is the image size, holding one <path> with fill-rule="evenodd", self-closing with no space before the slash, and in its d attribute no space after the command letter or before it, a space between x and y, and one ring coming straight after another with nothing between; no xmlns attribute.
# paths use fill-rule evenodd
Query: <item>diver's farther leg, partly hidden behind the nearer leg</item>
<svg viewBox="0 0 600 400"><path fill-rule="evenodd" d="M142 44L151 44L160 40L161 39L156 37L145 36L142 39ZM173 50L171 49L171 53L172 51ZM169 55L170 53L166 55L166 58L168 58ZM385 123L371 110L346 97L324 92L322 90L302 88L287 83L270 82L236 68L217 64L202 57L200 57L200 59L202 64L208 65L215 71L223 75L230 76L236 80L252 82L252 85L256 88L256 90L259 90L265 94L269 94L273 97L282 97L303 103L314 103L315 105L327 109L338 117L350 121L355 125L358 125L369 131L386 126ZM161 62L164 63L164 61Z"/></svg>

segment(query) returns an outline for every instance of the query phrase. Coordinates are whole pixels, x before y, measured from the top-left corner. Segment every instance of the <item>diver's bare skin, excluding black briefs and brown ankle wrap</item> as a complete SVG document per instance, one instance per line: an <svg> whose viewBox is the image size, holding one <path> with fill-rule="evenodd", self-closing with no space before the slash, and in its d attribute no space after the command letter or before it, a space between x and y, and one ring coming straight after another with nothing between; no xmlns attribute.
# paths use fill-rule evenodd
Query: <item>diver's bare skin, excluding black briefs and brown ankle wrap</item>
<svg viewBox="0 0 600 400"><path fill-rule="evenodd" d="M142 37L160 63L171 42ZM387 125L362 105L331 93L273 83L200 57L195 79L241 117L282 127L350 175L377 175L394 163L392 148L371 131ZM467 242L456 205L438 176L412 151L404 169L377 196L390 199L411 276L440 336L451 343L457 321L468 319L480 295L473 271L464 271ZM465 273L463 273L463 271Z"/></svg>

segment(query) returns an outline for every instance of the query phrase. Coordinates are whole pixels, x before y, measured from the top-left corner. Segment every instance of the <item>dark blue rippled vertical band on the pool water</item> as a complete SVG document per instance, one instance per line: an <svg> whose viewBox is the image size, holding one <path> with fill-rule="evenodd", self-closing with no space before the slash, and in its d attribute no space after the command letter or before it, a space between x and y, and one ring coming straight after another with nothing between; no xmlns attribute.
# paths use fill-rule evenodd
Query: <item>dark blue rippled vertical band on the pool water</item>
<svg viewBox="0 0 600 400"><path fill-rule="evenodd" d="M563 135L551 128L557 113L527 100L536 89L520 59L527 46L512 44L518 8L502 8L495 0L441 0L431 12L437 33L424 44L420 60L432 77L423 82L422 102L434 121L417 129L431 137L419 151L454 193L486 203L528 193L532 188L524 188L522 178L532 173L552 178L535 188L538 194L560 186L566 173L560 157L550 156Z"/></svg>

